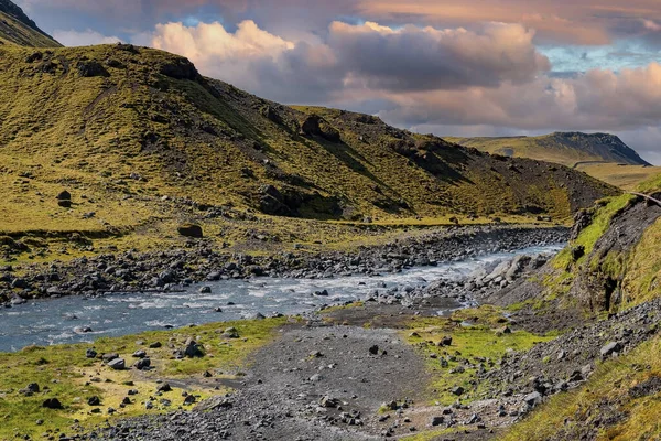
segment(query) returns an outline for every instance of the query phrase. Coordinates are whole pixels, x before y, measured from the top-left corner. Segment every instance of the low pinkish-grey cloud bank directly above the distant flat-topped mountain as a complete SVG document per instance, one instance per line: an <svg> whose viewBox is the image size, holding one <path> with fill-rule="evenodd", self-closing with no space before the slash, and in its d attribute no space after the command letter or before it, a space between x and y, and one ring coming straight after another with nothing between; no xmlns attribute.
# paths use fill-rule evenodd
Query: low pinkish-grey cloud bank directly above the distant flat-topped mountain
<svg viewBox="0 0 661 441"><path fill-rule="evenodd" d="M631 130L661 120L661 64L593 69L572 78L540 77L498 88L387 94L397 104L383 112L391 122L487 125L520 130Z"/></svg>

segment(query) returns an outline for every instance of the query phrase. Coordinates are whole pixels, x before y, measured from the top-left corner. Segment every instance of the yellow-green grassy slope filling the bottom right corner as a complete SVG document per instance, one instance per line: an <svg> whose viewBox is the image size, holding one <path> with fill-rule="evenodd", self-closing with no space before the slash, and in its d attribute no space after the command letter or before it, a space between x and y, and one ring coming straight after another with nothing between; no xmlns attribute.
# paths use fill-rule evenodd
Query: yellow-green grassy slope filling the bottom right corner
<svg viewBox="0 0 661 441"><path fill-rule="evenodd" d="M651 440L661 435L660 394L633 398L629 390L644 380L661 376L661 338L658 336L625 357L598 366L579 389L551 398L522 422L514 424L502 441L544 440L562 430L567 439L576 431L596 426L598 440ZM602 420L606 405L622 412L624 419Z"/></svg>

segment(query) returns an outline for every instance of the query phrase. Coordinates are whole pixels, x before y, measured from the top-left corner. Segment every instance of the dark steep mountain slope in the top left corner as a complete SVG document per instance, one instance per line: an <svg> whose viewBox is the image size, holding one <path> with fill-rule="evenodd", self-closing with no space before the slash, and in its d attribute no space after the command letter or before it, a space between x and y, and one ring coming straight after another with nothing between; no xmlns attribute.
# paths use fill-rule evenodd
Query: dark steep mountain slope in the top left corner
<svg viewBox="0 0 661 441"><path fill-rule="evenodd" d="M0 44L33 47L62 46L39 29L21 8L9 0L0 0Z"/></svg>

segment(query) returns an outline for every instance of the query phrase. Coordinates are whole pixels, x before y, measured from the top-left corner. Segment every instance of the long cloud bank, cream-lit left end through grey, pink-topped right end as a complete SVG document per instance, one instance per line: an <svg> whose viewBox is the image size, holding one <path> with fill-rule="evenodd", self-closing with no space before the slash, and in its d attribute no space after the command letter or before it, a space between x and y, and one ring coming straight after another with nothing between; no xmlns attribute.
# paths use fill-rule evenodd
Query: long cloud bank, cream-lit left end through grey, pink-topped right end
<svg viewBox="0 0 661 441"><path fill-rule="evenodd" d="M533 80L550 68L518 24L465 29L333 22L325 39L292 42L253 21L160 24L156 49L191 58L205 75L288 103L332 99L351 89L436 90ZM144 37L141 39L143 41Z"/></svg>

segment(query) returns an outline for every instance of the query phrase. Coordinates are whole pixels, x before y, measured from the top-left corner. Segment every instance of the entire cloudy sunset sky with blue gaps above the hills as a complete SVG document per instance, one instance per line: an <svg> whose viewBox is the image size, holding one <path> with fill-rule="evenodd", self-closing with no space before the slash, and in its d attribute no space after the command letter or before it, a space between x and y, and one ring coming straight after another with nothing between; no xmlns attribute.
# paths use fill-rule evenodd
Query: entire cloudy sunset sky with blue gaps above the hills
<svg viewBox="0 0 661 441"><path fill-rule="evenodd" d="M661 0L18 0L284 104L438 136L605 131L661 164Z"/></svg>

